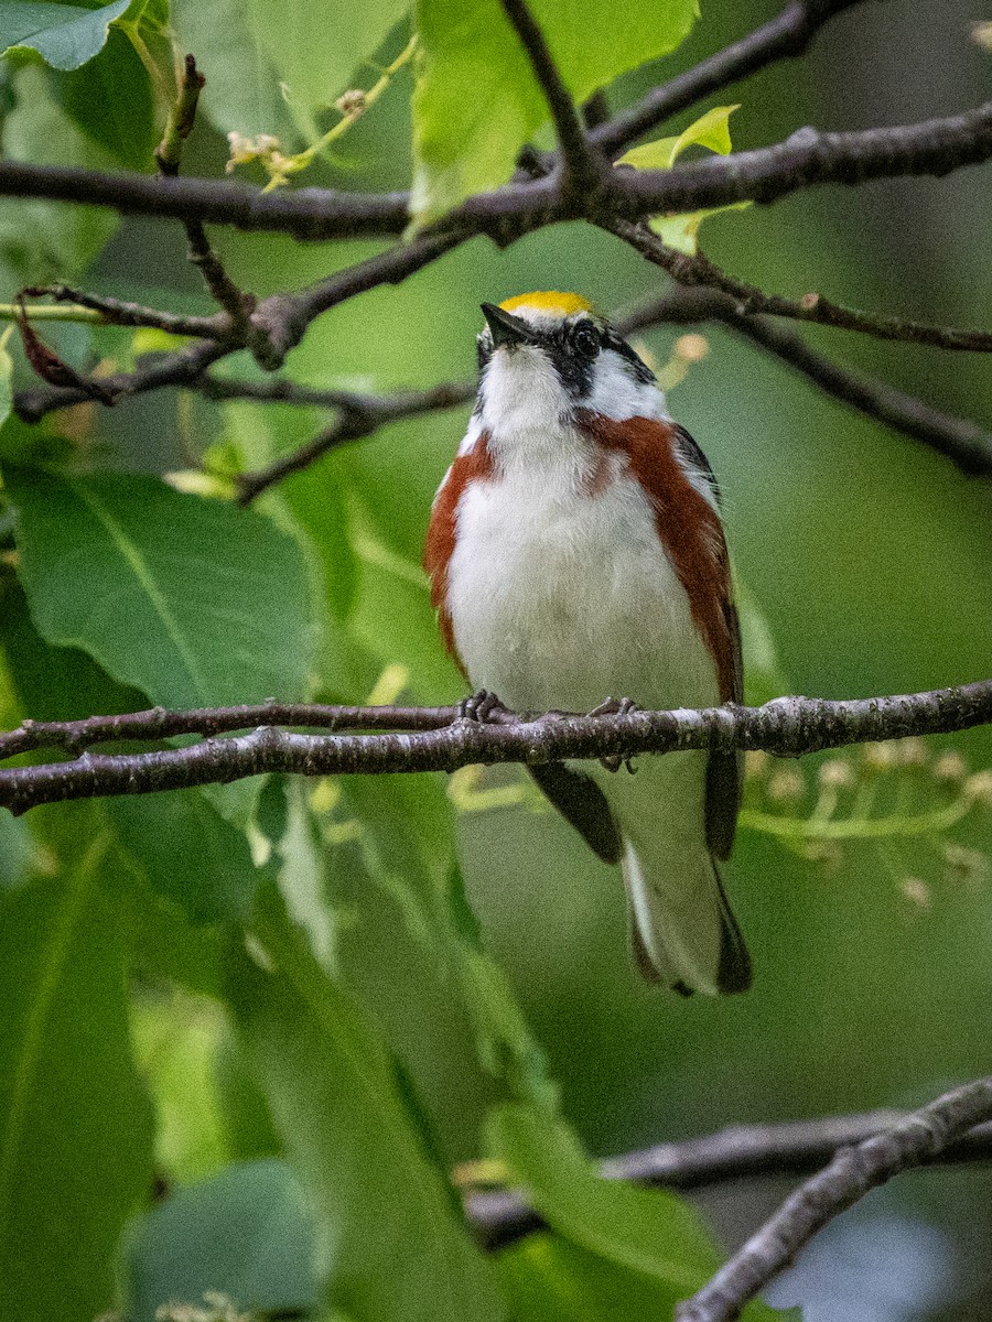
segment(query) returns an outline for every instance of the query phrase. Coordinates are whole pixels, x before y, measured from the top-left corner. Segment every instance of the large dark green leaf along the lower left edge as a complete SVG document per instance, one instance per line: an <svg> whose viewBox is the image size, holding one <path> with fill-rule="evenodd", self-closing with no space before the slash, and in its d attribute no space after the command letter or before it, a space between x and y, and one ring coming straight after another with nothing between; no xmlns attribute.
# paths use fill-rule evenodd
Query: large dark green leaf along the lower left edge
<svg viewBox="0 0 992 1322"><path fill-rule="evenodd" d="M0 896L0 1311L19 1322L107 1309L118 1235L151 1190L103 849Z"/></svg>

